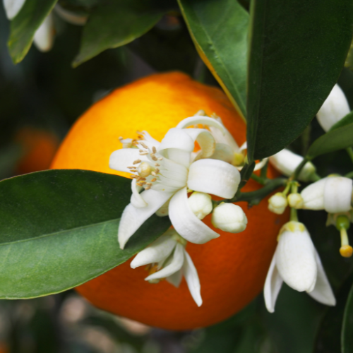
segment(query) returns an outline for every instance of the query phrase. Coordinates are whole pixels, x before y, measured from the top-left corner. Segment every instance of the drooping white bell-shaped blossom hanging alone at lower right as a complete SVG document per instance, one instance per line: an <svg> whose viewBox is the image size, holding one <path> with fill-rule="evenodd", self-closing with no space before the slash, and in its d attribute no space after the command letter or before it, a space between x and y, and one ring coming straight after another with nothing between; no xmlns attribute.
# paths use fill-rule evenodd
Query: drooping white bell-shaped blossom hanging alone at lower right
<svg viewBox="0 0 353 353"><path fill-rule="evenodd" d="M265 304L270 313L275 311L283 281L299 292L307 292L322 304L333 306L336 303L309 232L300 222L286 223L278 237L264 288Z"/></svg>

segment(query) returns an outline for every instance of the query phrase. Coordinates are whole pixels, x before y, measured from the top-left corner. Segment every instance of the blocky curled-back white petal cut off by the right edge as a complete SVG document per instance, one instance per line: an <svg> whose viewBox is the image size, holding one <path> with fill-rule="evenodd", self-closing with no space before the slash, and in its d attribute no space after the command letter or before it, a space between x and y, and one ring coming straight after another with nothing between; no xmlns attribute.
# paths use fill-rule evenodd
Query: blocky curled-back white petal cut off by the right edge
<svg viewBox="0 0 353 353"><path fill-rule="evenodd" d="M328 177L323 189L323 205L328 213L348 212L352 200L352 179Z"/></svg>

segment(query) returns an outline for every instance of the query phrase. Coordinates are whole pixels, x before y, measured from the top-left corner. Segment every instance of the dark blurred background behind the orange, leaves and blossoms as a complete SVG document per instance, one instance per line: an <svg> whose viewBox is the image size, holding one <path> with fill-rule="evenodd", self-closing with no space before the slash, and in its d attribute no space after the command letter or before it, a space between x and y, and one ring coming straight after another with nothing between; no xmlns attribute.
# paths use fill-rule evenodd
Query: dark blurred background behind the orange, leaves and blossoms
<svg viewBox="0 0 353 353"><path fill-rule="evenodd" d="M81 28L58 16L54 20L54 48L43 54L32 46L15 66L6 47L8 20L0 6L0 179L49 168L60 141L78 116L125 83L155 71L180 70L217 85L177 13L164 16L138 40L106 50L77 68L72 68L71 62L78 51ZM340 78L351 107L352 76L345 70ZM322 133L313 121L292 150L303 153L309 141ZM319 157L316 165L319 174L345 174L348 161L345 153L337 152ZM340 352L340 323L352 283L352 261L330 251L339 248L340 239L333 227L325 227L325 213L310 214L311 222L306 217L303 213L301 220L311 225L309 231L337 294L335 308L284 285L273 314L265 310L260 294L223 323L172 332L112 316L70 290L38 299L0 301L0 353Z"/></svg>

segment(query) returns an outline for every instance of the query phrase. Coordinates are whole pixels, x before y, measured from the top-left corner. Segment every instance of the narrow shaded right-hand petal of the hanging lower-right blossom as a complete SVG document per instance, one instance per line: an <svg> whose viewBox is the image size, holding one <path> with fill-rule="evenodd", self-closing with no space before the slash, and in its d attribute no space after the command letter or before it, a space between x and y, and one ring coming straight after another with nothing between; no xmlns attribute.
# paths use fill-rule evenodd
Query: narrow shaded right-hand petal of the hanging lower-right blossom
<svg viewBox="0 0 353 353"><path fill-rule="evenodd" d="M323 269L323 265L317 251L315 251L315 258L316 265L318 266L318 277L316 278L316 285L314 289L309 292L309 295L319 303L335 306L335 294L333 294L333 290L328 282L328 278L326 277L325 270Z"/></svg>

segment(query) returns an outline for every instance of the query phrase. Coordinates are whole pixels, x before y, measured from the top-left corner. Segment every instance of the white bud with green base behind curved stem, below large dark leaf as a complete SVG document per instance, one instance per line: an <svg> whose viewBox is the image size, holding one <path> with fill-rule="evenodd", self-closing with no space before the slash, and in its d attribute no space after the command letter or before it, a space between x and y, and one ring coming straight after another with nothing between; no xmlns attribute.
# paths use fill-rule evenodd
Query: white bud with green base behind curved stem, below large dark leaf
<svg viewBox="0 0 353 353"><path fill-rule="evenodd" d="M271 156L270 162L273 164L275 169L284 174L286 177L290 177L303 159L304 158L300 155L296 155L295 153L284 149ZM298 179L301 181L310 181L315 172L315 166L311 162L307 162L303 169L301 169Z"/></svg>

